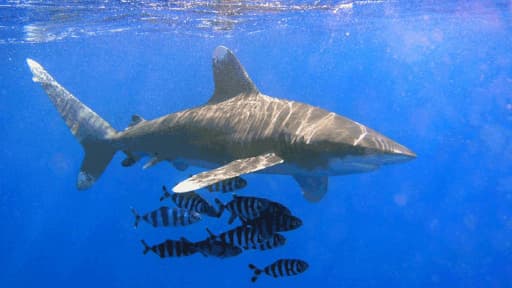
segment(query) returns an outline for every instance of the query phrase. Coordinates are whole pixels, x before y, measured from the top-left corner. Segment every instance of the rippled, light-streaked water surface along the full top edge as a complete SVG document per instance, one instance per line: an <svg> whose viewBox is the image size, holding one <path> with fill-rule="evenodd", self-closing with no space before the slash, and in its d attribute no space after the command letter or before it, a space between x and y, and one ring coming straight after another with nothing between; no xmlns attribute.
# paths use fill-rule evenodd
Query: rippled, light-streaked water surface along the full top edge
<svg viewBox="0 0 512 288"><path fill-rule="evenodd" d="M371 21L382 19L456 15L468 11L478 17L491 11L489 7L477 5L475 8L459 1L423 2L431 1L7 1L0 4L0 44L40 43L125 31L206 38L288 28L340 32L347 26L369 25ZM510 9L507 0L494 1L493 5L503 11Z"/></svg>

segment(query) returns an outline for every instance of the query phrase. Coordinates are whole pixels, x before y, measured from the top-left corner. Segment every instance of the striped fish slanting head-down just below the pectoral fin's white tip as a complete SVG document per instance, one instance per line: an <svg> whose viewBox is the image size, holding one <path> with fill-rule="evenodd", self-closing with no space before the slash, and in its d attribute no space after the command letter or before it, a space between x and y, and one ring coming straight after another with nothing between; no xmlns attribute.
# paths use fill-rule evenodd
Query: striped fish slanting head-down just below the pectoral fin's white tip
<svg viewBox="0 0 512 288"><path fill-rule="evenodd" d="M165 186L162 186L162 190L164 194L160 197L160 201L171 198L172 202L179 208L188 209L211 217L220 217L220 213L217 212L208 201L204 200L203 197L199 196L194 191L187 193L170 193Z"/></svg>

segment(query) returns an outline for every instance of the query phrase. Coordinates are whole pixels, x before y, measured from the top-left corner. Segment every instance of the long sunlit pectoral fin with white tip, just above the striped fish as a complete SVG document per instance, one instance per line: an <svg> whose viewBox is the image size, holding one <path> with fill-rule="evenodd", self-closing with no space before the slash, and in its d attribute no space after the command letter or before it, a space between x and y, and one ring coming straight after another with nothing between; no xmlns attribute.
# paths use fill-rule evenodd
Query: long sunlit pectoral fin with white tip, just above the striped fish
<svg viewBox="0 0 512 288"><path fill-rule="evenodd" d="M217 169L196 174L178 183L172 190L177 193L198 190L222 180L231 179L242 174L256 172L283 163L283 159L274 153L256 157L238 159Z"/></svg>

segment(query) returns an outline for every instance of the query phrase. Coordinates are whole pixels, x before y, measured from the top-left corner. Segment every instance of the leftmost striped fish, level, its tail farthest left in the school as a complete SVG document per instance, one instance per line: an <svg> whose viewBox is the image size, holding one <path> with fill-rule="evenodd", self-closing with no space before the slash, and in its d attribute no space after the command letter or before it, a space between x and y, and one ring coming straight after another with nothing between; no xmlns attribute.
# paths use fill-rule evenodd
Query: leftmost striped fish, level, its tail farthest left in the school
<svg viewBox="0 0 512 288"><path fill-rule="evenodd" d="M186 226L201 220L201 214L197 212L167 206L162 206L142 216L134 208L132 208L132 213L135 216L135 223L133 224L135 228L139 226L141 219L153 225L153 227Z"/></svg>

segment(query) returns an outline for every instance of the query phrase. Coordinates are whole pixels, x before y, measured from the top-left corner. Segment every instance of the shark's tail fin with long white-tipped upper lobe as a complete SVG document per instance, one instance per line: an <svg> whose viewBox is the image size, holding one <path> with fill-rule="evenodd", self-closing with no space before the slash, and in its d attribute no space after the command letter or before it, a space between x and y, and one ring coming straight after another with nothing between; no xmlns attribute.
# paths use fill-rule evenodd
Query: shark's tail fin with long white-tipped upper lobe
<svg viewBox="0 0 512 288"><path fill-rule="evenodd" d="M109 140L117 132L98 114L62 87L36 61L27 59L34 82L41 83L46 94L85 150L77 187L85 190L94 184L107 167L116 149Z"/></svg>

